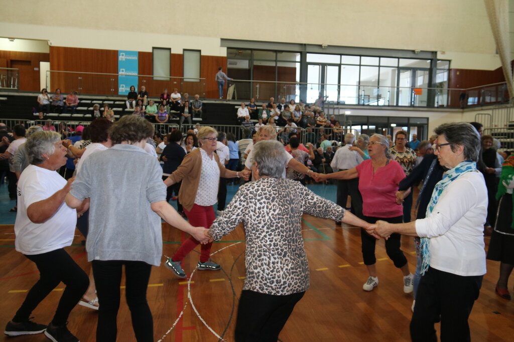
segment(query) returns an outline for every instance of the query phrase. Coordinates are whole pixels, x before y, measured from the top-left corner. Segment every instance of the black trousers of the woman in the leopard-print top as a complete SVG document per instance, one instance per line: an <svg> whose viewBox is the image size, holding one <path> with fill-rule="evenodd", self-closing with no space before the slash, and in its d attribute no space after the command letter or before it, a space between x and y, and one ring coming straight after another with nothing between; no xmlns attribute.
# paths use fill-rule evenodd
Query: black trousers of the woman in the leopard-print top
<svg viewBox="0 0 514 342"><path fill-rule="evenodd" d="M237 308L236 342L277 342L292 310L304 294L277 296L243 290Z"/></svg>

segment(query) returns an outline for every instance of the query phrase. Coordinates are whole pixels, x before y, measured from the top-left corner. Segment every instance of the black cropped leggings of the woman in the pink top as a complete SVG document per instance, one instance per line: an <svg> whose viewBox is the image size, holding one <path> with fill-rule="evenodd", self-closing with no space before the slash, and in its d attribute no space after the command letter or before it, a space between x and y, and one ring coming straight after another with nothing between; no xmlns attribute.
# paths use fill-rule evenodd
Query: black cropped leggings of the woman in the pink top
<svg viewBox="0 0 514 342"><path fill-rule="evenodd" d="M375 223L379 219L389 223L403 222L403 216L389 218L363 216L362 218L368 223ZM400 249L400 237L400 234L394 233L386 240L386 253L389 258L393 260L394 266L397 268L402 268L407 264L407 258ZM377 262L375 258L375 244L377 239L366 233L364 229L361 229L360 240L362 242L362 258L364 259L364 265L375 265Z"/></svg>

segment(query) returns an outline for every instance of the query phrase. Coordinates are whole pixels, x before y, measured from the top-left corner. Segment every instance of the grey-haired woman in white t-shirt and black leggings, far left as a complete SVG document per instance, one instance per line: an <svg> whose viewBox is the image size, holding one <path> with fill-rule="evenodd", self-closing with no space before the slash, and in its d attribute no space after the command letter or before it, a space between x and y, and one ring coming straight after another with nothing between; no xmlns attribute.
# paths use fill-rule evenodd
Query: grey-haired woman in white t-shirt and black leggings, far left
<svg viewBox="0 0 514 342"><path fill-rule="evenodd" d="M5 334L18 336L44 331L53 341L78 341L66 324L89 281L64 250L73 242L77 223L77 211L64 203L73 178L66 182L56 172L66 164L66 148L59 133L44 131L32 134L25 148L31 165L18 181L15 246L38 267L40 278L7 324ZM61 281L66 288L48 327L30 321L32 311Z"/></svg>

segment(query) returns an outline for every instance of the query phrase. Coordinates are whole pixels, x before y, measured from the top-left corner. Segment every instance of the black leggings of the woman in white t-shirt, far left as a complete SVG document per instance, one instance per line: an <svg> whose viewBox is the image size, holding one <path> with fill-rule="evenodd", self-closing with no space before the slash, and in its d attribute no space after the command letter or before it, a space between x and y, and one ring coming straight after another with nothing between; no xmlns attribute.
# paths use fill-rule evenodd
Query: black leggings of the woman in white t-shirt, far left
<svg viewBox="0 0 514 342"><path fill-rule="evenodd" d="M62 281L66 288L61 300L59 300L52 325L65 325L69 313L79 303L80 298L89 286L87 274L63 248L43 254L25 256L38 267L39 280L29 290L22 306L12 320L14 322L27 321L32 311Z"/></svg>

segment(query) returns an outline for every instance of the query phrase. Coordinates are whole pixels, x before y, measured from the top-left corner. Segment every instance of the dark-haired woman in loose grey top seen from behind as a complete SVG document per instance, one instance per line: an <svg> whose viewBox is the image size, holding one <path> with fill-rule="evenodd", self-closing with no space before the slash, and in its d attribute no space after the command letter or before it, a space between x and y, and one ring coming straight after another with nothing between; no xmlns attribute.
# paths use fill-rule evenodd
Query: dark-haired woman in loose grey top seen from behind
<svg viewBox="0 0 514 342"><path fill-rule="evenodd" d="M136 340L154 339L146 288L152 265L159 266L162 257L161 218L207 242L204 228L191 226L166 202L162 169L157 159L143 150L153 135L148 120L123 116L109 129L115 145L84 160L66 196L72 208L90 197L86 249L100 303L97 341L116 340L123 267Z"/></svg>

